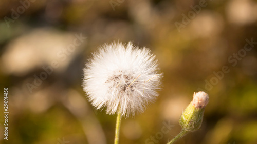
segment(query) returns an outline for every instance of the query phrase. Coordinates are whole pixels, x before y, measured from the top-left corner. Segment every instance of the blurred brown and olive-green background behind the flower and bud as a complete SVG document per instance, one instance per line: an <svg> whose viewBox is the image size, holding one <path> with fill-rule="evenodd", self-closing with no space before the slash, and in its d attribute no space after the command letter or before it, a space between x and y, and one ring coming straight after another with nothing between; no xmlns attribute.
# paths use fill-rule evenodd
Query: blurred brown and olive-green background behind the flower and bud
<svg viewBox="0 0 257 144"><path fill-rule="evenodd" d="M81 81L114 40L150 48L164 74L156 102L122 119L120 143L167 143L200 90L201 130L177 143L257 143L257 1L2 0L0 17L1 143L113 143L116 116L95 110Z"/></svg>

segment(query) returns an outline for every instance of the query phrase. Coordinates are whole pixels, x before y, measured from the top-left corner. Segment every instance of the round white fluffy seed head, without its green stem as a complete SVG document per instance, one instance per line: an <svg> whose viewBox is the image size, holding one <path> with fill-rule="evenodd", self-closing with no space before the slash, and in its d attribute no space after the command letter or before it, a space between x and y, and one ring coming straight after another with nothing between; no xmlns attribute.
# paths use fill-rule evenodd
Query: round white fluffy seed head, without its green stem
<svg viewBox="0 0 257 144"><path fill-rule="evenodd" d="M157 60L147 48L127 45L103 45L93 53L84 68L83 90L96 109L107 107L108 114L121 109L122 116L143 112L158 96L162 74Z"/></svg>

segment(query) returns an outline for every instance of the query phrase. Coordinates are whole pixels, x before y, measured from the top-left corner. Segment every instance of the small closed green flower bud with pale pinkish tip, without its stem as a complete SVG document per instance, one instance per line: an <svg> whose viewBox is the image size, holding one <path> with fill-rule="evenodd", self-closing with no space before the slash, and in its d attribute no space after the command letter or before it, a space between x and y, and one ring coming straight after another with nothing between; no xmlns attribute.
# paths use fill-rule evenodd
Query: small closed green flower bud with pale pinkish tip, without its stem
<svg viewBox="0 0 257 144"><path fill-rule="evenodd" d="M179 124L182 131L196 131L203 121L205 106L209 102L209 96L205 92L194 93L193 100L185 111L183 111Z"/></svg>

